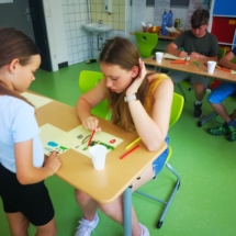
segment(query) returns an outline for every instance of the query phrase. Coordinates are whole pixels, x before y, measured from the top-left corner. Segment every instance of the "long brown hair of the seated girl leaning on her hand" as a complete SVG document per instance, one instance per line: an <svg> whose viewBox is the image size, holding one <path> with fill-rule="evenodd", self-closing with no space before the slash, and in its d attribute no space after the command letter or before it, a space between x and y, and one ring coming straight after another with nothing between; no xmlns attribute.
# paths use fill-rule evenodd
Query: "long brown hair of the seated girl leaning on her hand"
<svg viewBox="0 0 236 236"><path fill-rule="evenodd" d="M114 37L104 46L99 60L100 63L119 65L122 69L131 71L134 66L139 69L139 58L137 48L128 40ZM149 88L149 83L145 78L136 93L142 104L144 104L147 88ZM112 111L111 119L113 123L119 124L122 128L134 131L134 122L128 105L124 102L124 95L125 91L115 93L108 89L109 109Z"/></svg>

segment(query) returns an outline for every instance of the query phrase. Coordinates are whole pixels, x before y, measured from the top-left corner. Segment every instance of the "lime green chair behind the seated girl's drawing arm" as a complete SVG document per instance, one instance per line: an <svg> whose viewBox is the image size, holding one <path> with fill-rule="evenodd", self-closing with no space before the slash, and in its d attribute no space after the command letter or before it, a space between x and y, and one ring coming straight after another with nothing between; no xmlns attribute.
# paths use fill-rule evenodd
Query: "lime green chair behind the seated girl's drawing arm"
<svg viewBox="0 0 236 236"><path fill-rule="evenodd" d="M95 87L97 83L103 78L104 78L104 76L101 72L82 70L79 74L79 80L78 80L80 91L82 93L89 91L90 89ZM98 105L95 105L91 110L91 114L105 119L105 120L109 120L110 115L109 115L108 100L105 99L104 101L102 101Z"/></svg>

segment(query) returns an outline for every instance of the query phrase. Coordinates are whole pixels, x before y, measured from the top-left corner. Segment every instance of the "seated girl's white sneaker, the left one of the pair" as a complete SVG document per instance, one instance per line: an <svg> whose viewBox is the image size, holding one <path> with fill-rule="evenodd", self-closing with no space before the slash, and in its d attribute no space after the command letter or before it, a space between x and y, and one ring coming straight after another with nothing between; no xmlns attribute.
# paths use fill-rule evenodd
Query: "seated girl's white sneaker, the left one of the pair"
<svg viewBox="0 0 236 236"><path fill-rule="evenodd" d="M77 232L75 236L90 236L92 231L95 228L95 226L99 223L99 216L95 214L93 221L88 221L85 217L79 221L79 226L77 227Z"/></svg>

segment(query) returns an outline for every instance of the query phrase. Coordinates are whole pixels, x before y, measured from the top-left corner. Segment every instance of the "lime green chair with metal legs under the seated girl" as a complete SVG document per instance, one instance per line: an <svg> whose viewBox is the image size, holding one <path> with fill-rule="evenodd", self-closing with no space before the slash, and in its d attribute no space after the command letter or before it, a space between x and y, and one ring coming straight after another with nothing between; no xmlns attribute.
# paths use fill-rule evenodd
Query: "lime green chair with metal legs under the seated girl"
<svg viewBox="0 0 236 236"><path fill-rule="evenodd" d="M184 103L183 97L178 94L178 93L173 93L169 127L171 127L179 120L179 117L180 117L180 115L182 113L183 103ZM167 201L158 199L158 198L149 195L149 194L146 194L146 193L141 192L138 190L135 191L136 193L138 193L141 195L147 196L148 199L151 199L154 201L157 201L157 202L160 202L160 203L165 204L165 209L162 211L162 214L161 214L161 216L160 216L160 218L159 218L159 221L158 221L158 223L156 225L157 228L161 227L161 225L164 223L164 218L165 218L165 216L167 214L167 211L168 211L168 209L169 209L169 206L170 206L170 204L171 204L171 202L173 200L173 196L177 193L177 190L180 187L180 181L181 181L180 176L178 175L178 172L168 162L170 157L171 157L171 155L172 155L172 148L171 148L171 146L169 146L169 155L167 157L165 166L167 167L168 170L170 170L171 173L175 175L177 180L176 180L176 184L172 187L172 190L171 190L170 194L168 194L168 196L167 196Z"/></svg>

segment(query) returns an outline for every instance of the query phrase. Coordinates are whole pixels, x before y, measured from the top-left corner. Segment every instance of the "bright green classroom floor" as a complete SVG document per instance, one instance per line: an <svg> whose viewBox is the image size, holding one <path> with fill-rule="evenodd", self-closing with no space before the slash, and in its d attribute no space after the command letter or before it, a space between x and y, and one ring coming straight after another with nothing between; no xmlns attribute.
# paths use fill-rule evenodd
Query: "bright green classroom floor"
<svg viewBox="0 0 236 236"><path fill-rule="evenodd" d="M99 70L98 64L77 64L56 72L37 71L36 81L30 90L55 100L75 105L80 92L78 75L82 69ZM223 136L214 137L205 130L221 122L220 117L196 126L192 117L193 92L187 91L182 115L170 132L173 155L170 164L181 176L181 187L167 213L160 229L155 228L162 205L139 195L133 195L139 222L145 224L151 236L235 236L236 235L236 142L229 143ZM179 92L177 90L177 92ZM227 103L228 109L234 104ZM204 102L204 114L212 111ZM166 169L156 181L143 189L158 196L168 194L175 179ZM52 177L46 180L56 211L58 236L72 236L78 220L82 216L76 204L74 189ZM0 201L1 204L1 201ZM0 209L2 209L0 206ZM122 226L109 220L101 212L100 224L92 236L121 236ZM30 236L35 233L30 228ZM3 211L0 211L0 235L10 236Z"/></svg>

